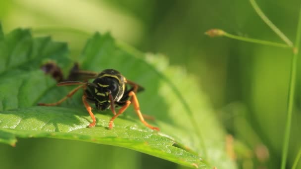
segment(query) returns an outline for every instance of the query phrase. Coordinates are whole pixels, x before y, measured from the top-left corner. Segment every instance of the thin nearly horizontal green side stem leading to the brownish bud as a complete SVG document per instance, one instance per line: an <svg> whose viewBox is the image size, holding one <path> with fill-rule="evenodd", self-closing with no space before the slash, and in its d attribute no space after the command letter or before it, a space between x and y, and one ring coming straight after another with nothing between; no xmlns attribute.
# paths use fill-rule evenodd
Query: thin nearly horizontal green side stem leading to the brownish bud
<svg viewBox="0 0 301 169"><path fill-rule="evenodd" d="M270 46L276 46L276 47L291 47L287 44L284 43L275 43L275 42L269 42L269 41L262 41L262 40L257 40L257 39L251 39L251 38L245 38L245 37L240 37L232 34L228 34L225 32L224 34L225 37L232 38L235 40L240 40L240 41L245 41L245 42L252 42L252 43L258 43L258 44L264 44L264 45L270 45Z"/></svg>

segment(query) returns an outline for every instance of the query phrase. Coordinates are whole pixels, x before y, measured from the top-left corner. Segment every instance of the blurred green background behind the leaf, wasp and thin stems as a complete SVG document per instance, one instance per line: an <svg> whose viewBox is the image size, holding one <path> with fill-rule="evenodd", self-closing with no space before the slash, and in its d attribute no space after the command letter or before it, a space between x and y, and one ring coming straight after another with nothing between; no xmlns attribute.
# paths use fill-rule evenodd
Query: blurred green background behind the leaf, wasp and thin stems
<svg viewBox="0 0 301 169"><path fill-rule="evenodd" d="M270 20L295 41L300 0L257 0ZM213 103L218 123L234 137L235 160L244 169L280 168L286 122L290 49L209 38L220 28L231 34L282 42L248 0L1 0L5 33L17 27L76 28L111 32L143 52L163 53L185 67ZM86 36L45 31L69 42L79 55ZM301 147L301 59L287 168ZM193 99L193 98L190 98ZM231 142L231 139L230 139ZM56 139L19 139L0 144L0 169L183 168L132 150ZM301 164L297 167L301 169Z"/></svg>

